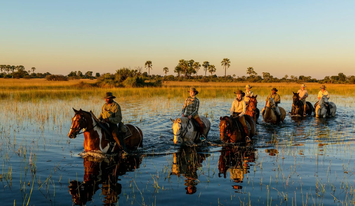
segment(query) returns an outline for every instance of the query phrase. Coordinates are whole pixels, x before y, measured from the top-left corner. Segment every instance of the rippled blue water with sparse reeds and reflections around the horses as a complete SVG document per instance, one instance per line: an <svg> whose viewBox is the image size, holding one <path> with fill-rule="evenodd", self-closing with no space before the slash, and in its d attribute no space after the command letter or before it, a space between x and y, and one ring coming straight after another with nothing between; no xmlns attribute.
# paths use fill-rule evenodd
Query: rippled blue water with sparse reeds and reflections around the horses
<svg viewBox="0 0 355 206"><path fill-rule="evenodd" d="M286 115L272 126L260 117L253 142L234 146L221 143L218 128L233 100L200 99L211 130L194 147L172 141L170 118L183 100L126 100L124 121L143 131L144 147L106 159L79 156L83 136L66 136L71 108L99 114L101 99L2 101L2 205L355 205L354 100L332 99L335 118Z"/></svg>

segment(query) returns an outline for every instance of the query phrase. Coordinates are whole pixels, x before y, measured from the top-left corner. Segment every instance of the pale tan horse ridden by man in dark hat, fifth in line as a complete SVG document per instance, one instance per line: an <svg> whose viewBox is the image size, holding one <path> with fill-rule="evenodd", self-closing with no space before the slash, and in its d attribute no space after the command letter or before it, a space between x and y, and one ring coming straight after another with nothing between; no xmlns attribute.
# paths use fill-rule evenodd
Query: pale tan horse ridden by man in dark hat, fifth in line
<svg viewBox="0 0 355 206"><path fill-rule="evenodd" d="M282 107L278 107L280 110L280 119L277 118L276 116L276 104L275 104L275 99L270 98L268 103L266 104L266 108L261 110L261 113L263 115L263 119L267 123L272 123L272 124L278 124L281 121L283 122L285 117L286 117L286 111Z"/></svg>

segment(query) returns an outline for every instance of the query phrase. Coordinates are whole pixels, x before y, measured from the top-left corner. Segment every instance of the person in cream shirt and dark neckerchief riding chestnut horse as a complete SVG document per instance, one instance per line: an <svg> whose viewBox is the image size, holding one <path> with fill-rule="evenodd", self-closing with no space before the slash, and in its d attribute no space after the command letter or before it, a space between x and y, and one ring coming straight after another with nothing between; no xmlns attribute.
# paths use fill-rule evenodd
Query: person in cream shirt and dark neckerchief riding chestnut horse
<svg viewBox="0 0 355 206"><path fill-rule="evenodd" d="M248 126L245 123L244 114L246 112L246 104L244 100L245 93L241 90L234 92L237 95L237 98L234 99L232 107L230 108L230 115L232 118L239 118L240 123L243 125L245 135L248 135ZM245 137L246 142L250 142L249 136Z"/></svg>

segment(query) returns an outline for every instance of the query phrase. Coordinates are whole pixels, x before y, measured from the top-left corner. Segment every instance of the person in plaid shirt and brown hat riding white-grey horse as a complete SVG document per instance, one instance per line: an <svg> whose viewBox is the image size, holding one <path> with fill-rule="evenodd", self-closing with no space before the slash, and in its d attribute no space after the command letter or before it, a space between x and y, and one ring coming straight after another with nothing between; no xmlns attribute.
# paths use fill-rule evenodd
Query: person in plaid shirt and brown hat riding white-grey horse
<svg viewBox="0 0 355 206"><path fill-rule="evenodd" d="M203 136L203 123L200 119L200 116L198 116L198 107L200 106L200 100L198 100L195 96L196 94L198 94L198 91L193 87L191 87L190 90L187 91L190 93L190 97L187 97L187 99L185 99L184 106L182 107L181 116L186 116L189 119L193 118L197 121L201 134L200 139L201 141L204 141L206 140L206 137ZM186 115L184 114L185 110Z"/></svg>

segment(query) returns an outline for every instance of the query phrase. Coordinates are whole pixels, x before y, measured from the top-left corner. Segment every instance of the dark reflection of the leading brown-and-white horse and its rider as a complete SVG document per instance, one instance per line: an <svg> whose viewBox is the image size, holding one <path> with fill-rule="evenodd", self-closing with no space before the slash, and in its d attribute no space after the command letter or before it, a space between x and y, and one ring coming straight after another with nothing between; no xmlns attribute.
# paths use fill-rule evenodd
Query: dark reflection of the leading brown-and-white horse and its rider
<svg viewBox="0 0 355 206"><path fill-rule="evenodd" d="M95 192L101 189L104 205L114 205L122 191L122 185L117 182L120 180L119 176L139 168L141 162L141 157L134 156L113 161L85 156L83 182L72 180L68 186L73 202L76 205L86 205L86 202L92 201Z"/></svg>

